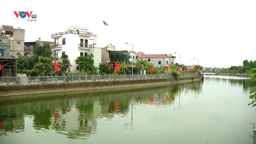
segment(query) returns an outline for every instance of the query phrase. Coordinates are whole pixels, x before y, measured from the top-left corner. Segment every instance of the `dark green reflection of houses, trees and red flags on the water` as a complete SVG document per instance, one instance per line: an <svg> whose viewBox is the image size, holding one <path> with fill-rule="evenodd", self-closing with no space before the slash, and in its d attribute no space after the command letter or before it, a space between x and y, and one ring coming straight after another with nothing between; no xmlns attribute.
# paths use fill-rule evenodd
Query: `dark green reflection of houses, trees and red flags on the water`
<svg viewBox="0 0 256 144"><path fill-rule="evenodd" d="M0 134L25 131L25 126L29 126L25 125L25 121L31 120L35 132L54 130L70 139L86 139L97 133L99 119L111 121L118 117L130 117L130 122L123 125L124 129L132 129L136 106L171 107L179 103L180 109L180 97L200 93L202 84L194 82L1 100Z"/></svg>

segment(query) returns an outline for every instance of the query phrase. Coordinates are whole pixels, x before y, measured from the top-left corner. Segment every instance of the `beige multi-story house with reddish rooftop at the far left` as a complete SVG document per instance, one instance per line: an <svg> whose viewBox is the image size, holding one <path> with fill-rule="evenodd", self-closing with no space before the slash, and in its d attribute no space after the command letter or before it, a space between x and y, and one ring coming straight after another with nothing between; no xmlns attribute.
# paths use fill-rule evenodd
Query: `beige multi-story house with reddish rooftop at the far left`
<svg viewBox="0 0 256 144"><path fill-rule="evenodd" d="M11 44L10 56L18 57L17 55L24 56L24 37L25 29L15 29L13 26L2 25L6 34L3 36L8 37L8 42Z"/></svg>

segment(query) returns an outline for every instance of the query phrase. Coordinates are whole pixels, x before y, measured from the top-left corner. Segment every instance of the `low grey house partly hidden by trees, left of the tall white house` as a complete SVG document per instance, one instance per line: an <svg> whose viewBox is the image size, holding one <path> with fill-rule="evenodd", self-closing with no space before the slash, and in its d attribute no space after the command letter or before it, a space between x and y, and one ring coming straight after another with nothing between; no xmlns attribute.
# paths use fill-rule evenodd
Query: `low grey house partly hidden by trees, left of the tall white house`
<svg viewBox="0 0 256 144"><path fill-rule="evenodd" d="M25 42L24 44L24 56L25 57L29 57L33 54L33 46L39 43L40 45L42 45L43 43L49 43L50 47L54 46L54 42L52 41L41 41L41 38L39 38L39 40L36 40L35 42ZM54 57L54 50L52 50L53 54L52 56Z"/></svg>

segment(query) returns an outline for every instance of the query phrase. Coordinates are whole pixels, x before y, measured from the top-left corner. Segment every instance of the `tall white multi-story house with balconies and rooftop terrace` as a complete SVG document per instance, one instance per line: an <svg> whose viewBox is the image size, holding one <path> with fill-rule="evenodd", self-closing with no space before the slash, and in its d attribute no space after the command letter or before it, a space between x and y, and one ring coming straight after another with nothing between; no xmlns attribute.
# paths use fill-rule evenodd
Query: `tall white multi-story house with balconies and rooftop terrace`
<svg viewBox="0 0 256 144"><path fill-rule="evenodd" d="M66 32L51 35L55 45L52 46L54 57L58 60L62 55L68 55L70 71L75 71L75 59L87 54L94 56L94 66L99 67L101 63L101 48L96 48L96 35L89 28L72 26Z"/></svg>

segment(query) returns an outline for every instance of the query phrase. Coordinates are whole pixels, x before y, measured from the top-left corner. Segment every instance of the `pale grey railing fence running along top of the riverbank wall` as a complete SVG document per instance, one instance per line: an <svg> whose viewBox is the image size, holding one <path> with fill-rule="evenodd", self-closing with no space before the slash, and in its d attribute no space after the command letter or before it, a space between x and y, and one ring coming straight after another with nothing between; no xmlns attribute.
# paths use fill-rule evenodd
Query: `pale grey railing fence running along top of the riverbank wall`
<svg viewBox="0 0 256 144"><path fill-rule="evenodd" d="M198 74L183 74L180 78L198 77ZM0 85L28 85L28 84L53 84L53 83L78 83L92 81L132 81L170 79L171 74L162 75L76 75L76 76L18 76L0 77Z"/></svg>

